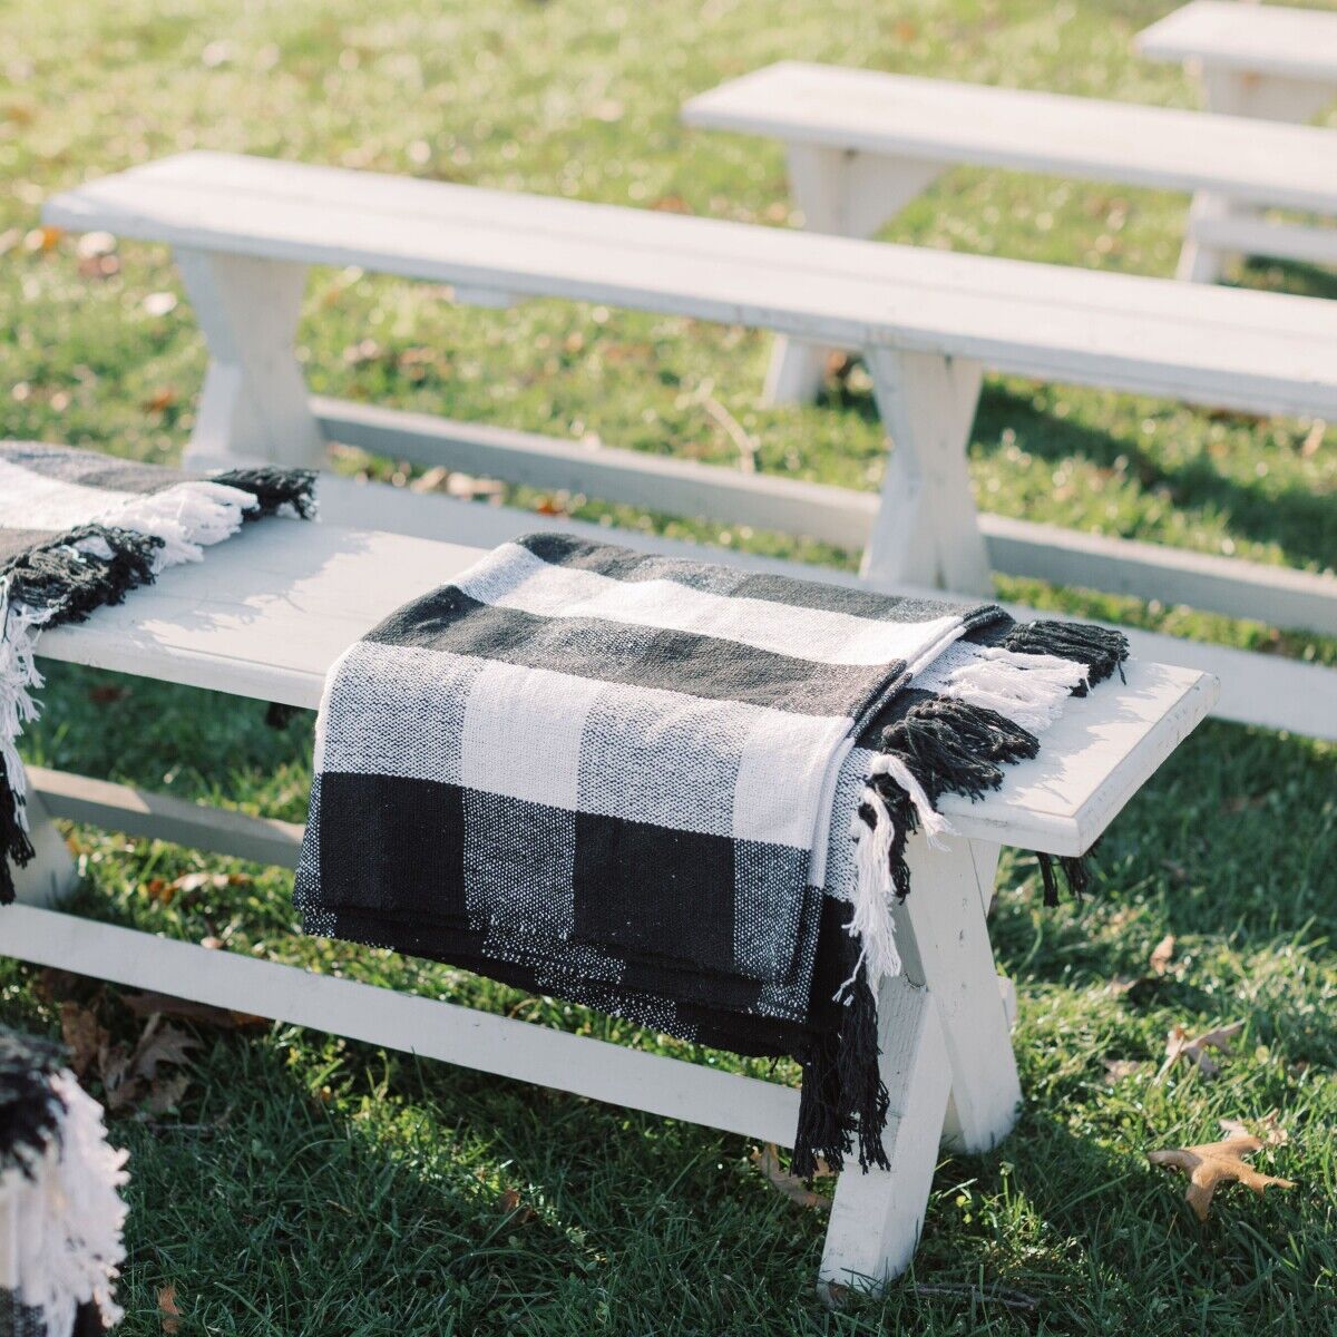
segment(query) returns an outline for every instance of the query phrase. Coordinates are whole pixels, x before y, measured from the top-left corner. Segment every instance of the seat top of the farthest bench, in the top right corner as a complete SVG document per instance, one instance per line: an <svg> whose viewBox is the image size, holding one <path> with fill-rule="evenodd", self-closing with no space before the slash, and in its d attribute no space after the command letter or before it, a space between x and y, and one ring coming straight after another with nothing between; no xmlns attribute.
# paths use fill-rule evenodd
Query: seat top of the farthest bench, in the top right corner
<svg viewBox="0 0 1337 1337"><path fill-rule="evenodd" d="M1150 60L1321 83L1337 95L1337 13L1239 0L1193 0L1136 36ZM1316 108L1317 110L1317 108Z"/></svg>

